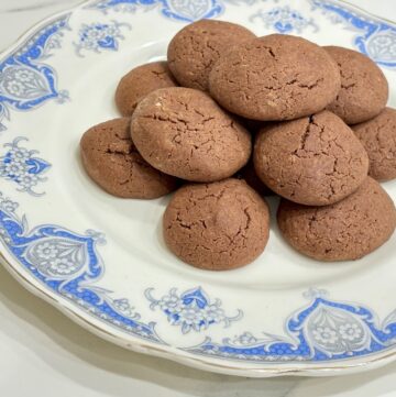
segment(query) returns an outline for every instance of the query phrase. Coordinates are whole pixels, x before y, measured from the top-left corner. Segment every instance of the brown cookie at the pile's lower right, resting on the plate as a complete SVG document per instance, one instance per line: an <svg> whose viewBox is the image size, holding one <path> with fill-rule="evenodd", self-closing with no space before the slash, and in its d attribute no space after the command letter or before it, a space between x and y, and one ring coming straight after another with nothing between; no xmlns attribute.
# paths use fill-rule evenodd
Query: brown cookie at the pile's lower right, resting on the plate
<svg viewBox="0 0 396 397"><path fill-rule="evenodd" d="M367 177L344 200L306 207L282 200L277 221L287 242L319 261L350 261L384 244L396 227L396 209L381 185Z"/></svg>

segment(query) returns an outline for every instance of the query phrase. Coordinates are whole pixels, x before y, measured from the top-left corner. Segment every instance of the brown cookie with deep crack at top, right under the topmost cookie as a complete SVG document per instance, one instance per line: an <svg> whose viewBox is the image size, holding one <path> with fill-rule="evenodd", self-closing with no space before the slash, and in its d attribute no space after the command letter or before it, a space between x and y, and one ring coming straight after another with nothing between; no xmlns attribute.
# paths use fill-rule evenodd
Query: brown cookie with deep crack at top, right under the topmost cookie
<svg viewBox="0 0 396 397"><path fill-rule="evenodd" d="M260 132L254 146L258 177L279 196L327 206L364 181L369 157L353 131L324 110Z"/></svg>

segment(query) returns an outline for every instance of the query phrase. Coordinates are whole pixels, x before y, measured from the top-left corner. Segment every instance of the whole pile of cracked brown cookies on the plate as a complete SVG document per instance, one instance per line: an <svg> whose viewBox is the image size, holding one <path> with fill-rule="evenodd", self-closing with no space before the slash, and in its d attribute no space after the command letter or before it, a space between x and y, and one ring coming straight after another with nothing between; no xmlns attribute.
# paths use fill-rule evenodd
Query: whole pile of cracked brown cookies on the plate
<svg viewBox="0 0 396 397"><path fill-rule="evenodd" d="M280 196L278 228L320 261L360 258L396 227L378 181L396 178L396 110L364 55L238 24L199 21L170 41L167 62L118 85L122 118L81 139L88 175L109 194L176 191L163 219L186 263L222 271L265 249L265 195Z"/></svg>

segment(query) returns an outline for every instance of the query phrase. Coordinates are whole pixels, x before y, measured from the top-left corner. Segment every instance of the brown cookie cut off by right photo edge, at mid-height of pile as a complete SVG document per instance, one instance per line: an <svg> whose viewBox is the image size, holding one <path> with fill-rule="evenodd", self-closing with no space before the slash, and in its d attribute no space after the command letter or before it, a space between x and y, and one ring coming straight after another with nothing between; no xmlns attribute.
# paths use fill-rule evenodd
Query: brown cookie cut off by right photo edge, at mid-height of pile
<svg viewBox="0 0 396 397"><path fill-rule="evenodd" d="M385 108L352 130L369 154L369 175L377 180L396 178L396 109Z"/></svg>

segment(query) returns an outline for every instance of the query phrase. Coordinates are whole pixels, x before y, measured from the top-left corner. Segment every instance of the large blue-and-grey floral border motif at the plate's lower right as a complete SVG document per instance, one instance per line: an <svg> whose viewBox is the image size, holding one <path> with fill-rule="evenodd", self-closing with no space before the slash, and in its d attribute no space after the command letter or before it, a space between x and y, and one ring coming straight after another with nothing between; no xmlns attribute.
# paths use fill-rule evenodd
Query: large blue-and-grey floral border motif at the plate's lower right
<svg viewBox="0 0 396 397"><path fill-rule="evenodd" d="M244 332L222 343L207 338L189 352L242 361L329 361L366 355L394 348L396 316L382 324L367 308L326 299L328 293L310 289L308 307L299 309L285 324L286 337ZM392 318L392 320L391 320ZM296 342L298 341L298 342Z"/></svg>

